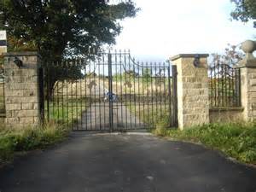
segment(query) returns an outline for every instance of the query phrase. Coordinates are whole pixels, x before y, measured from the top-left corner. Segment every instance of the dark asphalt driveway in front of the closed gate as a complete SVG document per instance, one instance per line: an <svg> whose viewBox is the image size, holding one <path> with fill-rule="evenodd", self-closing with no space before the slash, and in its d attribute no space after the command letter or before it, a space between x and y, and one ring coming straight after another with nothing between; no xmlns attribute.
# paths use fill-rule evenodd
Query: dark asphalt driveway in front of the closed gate
<svg viewBox="0 0 256 192"><path fill-rule="evenodd" d="M255 192L256 169L199 145L74 133L0 170L1 192Z"/></svg>

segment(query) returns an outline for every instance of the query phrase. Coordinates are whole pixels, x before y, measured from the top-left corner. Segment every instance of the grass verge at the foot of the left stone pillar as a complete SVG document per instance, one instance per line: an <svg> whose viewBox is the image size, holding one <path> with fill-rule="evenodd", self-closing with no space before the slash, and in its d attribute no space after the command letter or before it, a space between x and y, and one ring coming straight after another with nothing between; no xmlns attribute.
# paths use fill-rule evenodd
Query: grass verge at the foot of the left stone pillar
<svg viewBox="0 0 256 192"><path fill-rule="evenodd" d="M49 123L41 127L0 129L0 164L13 160L16 152L47 148L64 140L70 129Z"/></svg>

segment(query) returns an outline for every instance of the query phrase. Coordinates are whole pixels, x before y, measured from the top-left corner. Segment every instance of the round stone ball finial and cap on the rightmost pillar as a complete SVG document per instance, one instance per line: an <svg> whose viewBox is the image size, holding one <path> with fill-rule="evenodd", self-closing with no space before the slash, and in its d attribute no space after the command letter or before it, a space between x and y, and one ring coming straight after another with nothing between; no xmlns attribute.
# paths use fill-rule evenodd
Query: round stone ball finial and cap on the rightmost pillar
<svg viewBox="0 0 256 192"><path fill-rule="evenodd" d="M236 68L256 67L256 58L253 56L253 52L256 50L256 42L246 40L241 43L241 49L246 55L245 58L238 62Z"/></svg>

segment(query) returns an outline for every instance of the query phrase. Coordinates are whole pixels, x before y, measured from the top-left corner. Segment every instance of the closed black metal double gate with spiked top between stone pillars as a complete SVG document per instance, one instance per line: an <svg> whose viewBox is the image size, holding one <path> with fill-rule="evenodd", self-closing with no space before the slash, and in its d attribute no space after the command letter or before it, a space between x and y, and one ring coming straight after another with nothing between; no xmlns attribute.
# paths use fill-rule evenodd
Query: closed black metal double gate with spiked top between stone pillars
<svg viewBox="0 0 256 192"><path fill-rule="evenodd" d="M176 67L137 62L130 52L101 52L45 67L45 118L73 131L177 126Z"/></svg>

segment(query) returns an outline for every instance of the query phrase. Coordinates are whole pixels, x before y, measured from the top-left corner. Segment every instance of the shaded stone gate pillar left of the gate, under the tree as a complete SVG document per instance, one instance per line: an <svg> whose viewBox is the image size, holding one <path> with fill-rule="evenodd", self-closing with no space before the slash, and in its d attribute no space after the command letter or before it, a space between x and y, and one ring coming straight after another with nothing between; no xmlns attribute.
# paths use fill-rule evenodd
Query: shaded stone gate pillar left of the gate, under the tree
<svg viewBox="0 0 256 192"><path fill-rule="evenodd" d="M11 127L40 123L37 52L4 55L5 122Z"/></svg>

